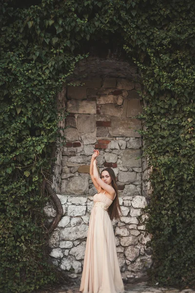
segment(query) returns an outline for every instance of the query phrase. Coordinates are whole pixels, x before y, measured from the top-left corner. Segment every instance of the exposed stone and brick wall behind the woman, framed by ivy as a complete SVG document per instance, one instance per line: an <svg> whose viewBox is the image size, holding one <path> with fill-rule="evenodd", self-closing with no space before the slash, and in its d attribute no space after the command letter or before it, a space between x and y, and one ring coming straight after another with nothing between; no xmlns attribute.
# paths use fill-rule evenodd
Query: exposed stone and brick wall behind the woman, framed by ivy
<svg viewBox="0 0 195 293"><path fill-rule="evenodd" d="M68 276L81 276L93 195L97 193L89 165L94 148L98 148L99 171L112 167L117 176L122 216L113 221L113 228L122 277L143 279L152 259L146 248L150 237L139 220L147 204L147 164L139 158L142 140L136 131L142 124L135 118L142 110L137 93L141 85L133 78L122 78L121 71L80 81L83 86L69 86L64 91L70 114L54 182L64 215L50 238L51 260ZM45 211L49 217L55 216L52 206Z"/></svg>

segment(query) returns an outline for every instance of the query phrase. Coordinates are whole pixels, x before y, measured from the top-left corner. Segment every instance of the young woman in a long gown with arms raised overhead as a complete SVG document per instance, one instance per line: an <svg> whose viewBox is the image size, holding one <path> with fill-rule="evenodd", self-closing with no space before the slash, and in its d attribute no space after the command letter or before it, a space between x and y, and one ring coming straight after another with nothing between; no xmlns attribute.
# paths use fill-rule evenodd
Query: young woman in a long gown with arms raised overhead
<svg viewBox="0 0 195 293"><path fill-rule="evenodd" d="M124 286L117 260L115 234L111 220L121 213L116 177L105 168L99 177L94 150L90 175L98 193L94 195L79 291L82 293L123 293Z"/></svg>

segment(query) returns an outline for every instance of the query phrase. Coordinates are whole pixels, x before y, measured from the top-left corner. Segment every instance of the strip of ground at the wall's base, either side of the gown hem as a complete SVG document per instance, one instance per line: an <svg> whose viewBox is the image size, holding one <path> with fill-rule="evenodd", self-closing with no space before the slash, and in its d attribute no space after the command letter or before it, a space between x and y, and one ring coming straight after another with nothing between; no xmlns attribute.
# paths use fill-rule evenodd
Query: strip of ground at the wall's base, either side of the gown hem
<svg viewBox="0 0 195 293"><path fill-rule="evenodd" d="M179 290L175 288L150 287L146 282L137 284L125 284L124 293L195 293L193 289ZM78 285L64 285L51 290L36 291L34 293L79 293Z"/></svg>

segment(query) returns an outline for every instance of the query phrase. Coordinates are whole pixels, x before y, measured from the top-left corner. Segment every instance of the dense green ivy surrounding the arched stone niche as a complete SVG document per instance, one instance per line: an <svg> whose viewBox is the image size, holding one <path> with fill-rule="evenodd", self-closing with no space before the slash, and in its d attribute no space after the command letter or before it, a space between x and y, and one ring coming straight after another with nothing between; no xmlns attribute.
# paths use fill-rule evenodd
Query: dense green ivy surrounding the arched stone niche
<svg viewBox="0 0 195 293"><path fill-rule="evenodd" d="M41 192L59 136L57 93L91 45L116 44L143 73L145 154L153 171L147 229L154 281L195 275L195 2L1 2L0 292L56 280L46 261Z"/></svg>

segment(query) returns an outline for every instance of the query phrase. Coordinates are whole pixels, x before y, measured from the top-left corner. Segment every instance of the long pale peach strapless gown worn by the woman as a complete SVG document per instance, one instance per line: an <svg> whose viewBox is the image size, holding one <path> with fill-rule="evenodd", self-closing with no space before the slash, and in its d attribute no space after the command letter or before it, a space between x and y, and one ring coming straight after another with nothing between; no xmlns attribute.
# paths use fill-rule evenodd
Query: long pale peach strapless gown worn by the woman
<svg viewBox="0 0 195 293"><path fill-rule="evenodd" d="M107 209L112 200L105 192L94 195L79 291L82 293L123 293L115 234Z"/></svg>

